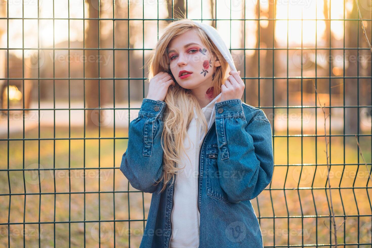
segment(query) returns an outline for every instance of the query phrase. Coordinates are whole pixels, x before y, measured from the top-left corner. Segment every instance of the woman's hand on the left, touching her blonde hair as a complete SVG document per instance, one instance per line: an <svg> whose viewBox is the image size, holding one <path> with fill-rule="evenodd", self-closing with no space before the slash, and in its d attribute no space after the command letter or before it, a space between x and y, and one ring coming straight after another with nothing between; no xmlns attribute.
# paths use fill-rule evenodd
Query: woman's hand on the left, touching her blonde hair
<svg viewBox="0 0 372 248"><path fill-rule="evenodd" d="M156 74L153 78L151 78L146 98L164 101L169 86L175 84L176 83L173 81L173 77L169 73L161 71L160 73Z"/></svg>

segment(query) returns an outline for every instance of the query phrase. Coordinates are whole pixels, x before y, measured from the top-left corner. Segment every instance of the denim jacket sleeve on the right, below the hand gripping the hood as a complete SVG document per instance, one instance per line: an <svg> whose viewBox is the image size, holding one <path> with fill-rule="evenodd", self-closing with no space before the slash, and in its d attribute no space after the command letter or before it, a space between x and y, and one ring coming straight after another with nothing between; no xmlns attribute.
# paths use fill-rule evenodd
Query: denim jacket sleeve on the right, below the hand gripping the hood
<svg viewBox="0 0 372 248"><path fill-rule="evenodd" d="M215 103L219 182L233 203L258 196L274 171L270 122L257 109L247 123L241 104L240 99Z"/></svg>

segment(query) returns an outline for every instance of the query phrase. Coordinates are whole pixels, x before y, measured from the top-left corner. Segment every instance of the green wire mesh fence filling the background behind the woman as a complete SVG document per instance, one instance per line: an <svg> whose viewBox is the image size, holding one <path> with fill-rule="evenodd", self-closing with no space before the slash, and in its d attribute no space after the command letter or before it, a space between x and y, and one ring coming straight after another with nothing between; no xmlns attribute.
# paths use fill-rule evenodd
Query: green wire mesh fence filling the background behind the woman
<svg viewBox="0 0 372 248"><path fill-rule="evenodd" d="M140 245L151 194L119 167L146 62L181 15L223 34L242 100L272 124L273 180L251 201L264 247L334 247L333 226L339 247L370 247L371 13L368 0L2 1L1 246Z"/></svg>

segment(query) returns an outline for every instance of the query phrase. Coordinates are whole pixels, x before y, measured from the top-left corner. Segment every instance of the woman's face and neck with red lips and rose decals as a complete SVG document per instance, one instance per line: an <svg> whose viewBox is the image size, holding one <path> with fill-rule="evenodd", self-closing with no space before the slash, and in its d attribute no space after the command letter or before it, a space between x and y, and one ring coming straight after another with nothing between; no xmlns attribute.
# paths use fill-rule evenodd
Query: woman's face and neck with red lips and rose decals
<svg viewBox="0 0 372 248"><path fill-rule="evenodd" d="M212 74L220 64L194 30L172 39L167 55L171 73L181 87L192 90L199 97L213 98ZM182 75L184 73L187 74Z"/></svg>

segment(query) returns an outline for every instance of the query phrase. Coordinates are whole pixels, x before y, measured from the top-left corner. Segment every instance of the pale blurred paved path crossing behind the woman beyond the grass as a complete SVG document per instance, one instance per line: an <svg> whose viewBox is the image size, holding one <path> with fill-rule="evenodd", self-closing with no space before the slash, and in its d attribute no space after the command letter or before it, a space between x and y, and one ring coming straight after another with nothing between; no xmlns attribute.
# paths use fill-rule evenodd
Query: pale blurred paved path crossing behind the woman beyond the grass
<svg viewBox="0 0 372 248"><path fill-rule="evenodd" d="M131 101L131 108L140 108L142 102L133 102ZM68 104L66 102L56 102L56 108L67 108ZM82 102L75 102L71 103L71 109L81 108L83 107ZM102 106L106 107L106 106ZM116 108L124 108L128 107L126 103L116 103ZM33 102L31 104L31 108L36 109L38 108L38 102ZM53 108L53 102L42 102L41 108ZM339 112L333 112L332 115L332 130L341 130L343 128L343 117L342 117L342 109L338 109ZM334 110L333 110L334 111ZM55 124L56 126L68 126L69 125L69 118L68 118L68 110L56 110L56 117L55 117ZM138 109L131 109L130 116L128 114L128 110L116 110L115 111L115 123L117 128L128 128L129 122L135 119L138 116ZM83 126L84 119L83 119L84 111L83 110L71 110L70 111L70 124L71 127L74 126ZM93 115L97 115L97 112L93 112ZM112 127L114 122L113 110L108 110L105 113L106 121L101 123L101 126ZM271 116L267 116L270 120L272 119ZM361 118L364 115L360 116ZM37 128L38 127L38 110L31 110L25 117L25 131L27 132L29 129ZM96 119L96 118L94 118ZM275 130L276 131L286 131L287 129L287 115L283 114L276 114L275 115ZM301 118L301 113L292 113L289 115L289 130L301 132L301 120L304 132L306 131L314 131L315 129L315 114L314 113L305 113ZM23 132L23 120L22 120L22 111L12 111L12 115L10 115L10 133L13 132ZM365 123L366 125L363 125ZM41 110L40 111L40 125L41 126L53 126L54 124L54 115L53 110ZM361 129L362 130L371 130L371 120L361 120ZM323 113L318 114L317 118L317 125L318 131L323 131L324 126L324 119ZM328 131L328 125L327 125ZM0 115L0 135L2 137L7 136L7 115ZM315 132L314 132L315 133Z"/></svg>

